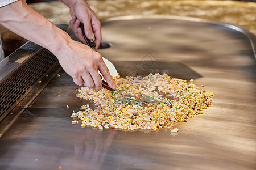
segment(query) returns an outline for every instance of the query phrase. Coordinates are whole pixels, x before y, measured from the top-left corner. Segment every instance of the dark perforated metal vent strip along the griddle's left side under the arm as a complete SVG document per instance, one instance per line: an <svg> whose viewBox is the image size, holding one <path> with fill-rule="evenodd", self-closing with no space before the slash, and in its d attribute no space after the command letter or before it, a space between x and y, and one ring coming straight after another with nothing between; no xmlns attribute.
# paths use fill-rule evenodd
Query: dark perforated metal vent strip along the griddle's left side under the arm
<svg viewBox="0 0 256 170"><path fill-rule="evenodd" d="M57 58L42 48L6 77L0 84L0 121L57 63Z"/></svg>

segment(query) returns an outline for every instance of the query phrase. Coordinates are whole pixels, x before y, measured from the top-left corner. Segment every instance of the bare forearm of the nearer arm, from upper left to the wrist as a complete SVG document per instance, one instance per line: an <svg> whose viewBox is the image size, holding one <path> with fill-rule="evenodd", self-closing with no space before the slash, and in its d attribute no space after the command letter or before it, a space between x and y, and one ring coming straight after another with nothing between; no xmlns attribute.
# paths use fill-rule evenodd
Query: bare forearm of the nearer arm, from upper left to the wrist
<svg viewBox="0 0 256 170"><path fill-rule="evenodd" d="M67 33L53 25L24 1L0 8L0 24L53 54L69 41ZM62 44L62 45L61 45Z"/></svg>

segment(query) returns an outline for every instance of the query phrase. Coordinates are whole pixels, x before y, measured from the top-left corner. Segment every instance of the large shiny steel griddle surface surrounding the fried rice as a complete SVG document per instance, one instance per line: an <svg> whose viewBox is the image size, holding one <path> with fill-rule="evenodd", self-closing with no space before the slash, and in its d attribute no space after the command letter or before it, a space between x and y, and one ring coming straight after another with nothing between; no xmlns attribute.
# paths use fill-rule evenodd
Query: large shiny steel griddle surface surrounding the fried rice
<svg viewBox="0 0 256 170"><path fill-rule="evenodd" d="M102 44L111 47L99 52L121 76L194 79L214 92L212 108L177 123L176 134L81 128L70 115L89 102L77 99L79 87L53 68L1 121L0 169L256 168L254 35L175 16L106 19L102 35L112 46Z"/></svg>

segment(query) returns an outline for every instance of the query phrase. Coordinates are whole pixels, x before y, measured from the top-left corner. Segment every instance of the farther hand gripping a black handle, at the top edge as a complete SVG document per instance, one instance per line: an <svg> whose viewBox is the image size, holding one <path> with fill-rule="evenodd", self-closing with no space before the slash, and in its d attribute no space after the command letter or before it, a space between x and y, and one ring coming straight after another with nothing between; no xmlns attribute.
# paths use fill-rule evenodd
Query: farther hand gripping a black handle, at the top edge
<svg viewBox="0 0 256 170"><path fill-rule="evenodd" d="M70 9L72 18L69 25L73 32L75 32L76 37L85 42L84 36L82 36L82 30L79 28L80 22L82 22L84 24L85 35L88 39L93 39L93 33L95 34L95 44L96 48L98 48L101 42L101 22L88 3L85 0L60 1Z"/></svg>

